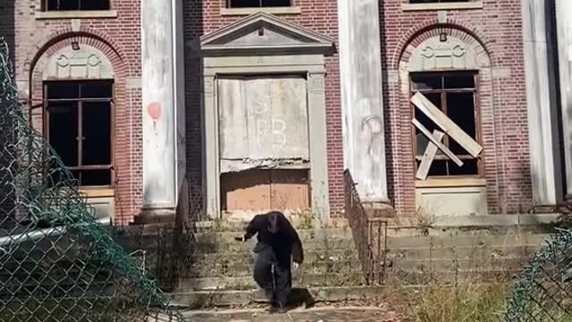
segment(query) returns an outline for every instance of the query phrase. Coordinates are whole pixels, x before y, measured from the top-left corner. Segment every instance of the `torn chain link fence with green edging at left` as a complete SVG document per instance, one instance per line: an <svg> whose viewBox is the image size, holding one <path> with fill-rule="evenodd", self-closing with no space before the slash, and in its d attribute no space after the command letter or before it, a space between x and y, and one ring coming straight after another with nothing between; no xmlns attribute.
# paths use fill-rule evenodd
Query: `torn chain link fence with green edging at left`
<svg viewBox="0 0 572 322"><path fill-rule="evenodd" d="M32 129L0 38L0 321L182 321Z"/></svg>

